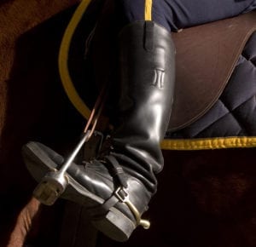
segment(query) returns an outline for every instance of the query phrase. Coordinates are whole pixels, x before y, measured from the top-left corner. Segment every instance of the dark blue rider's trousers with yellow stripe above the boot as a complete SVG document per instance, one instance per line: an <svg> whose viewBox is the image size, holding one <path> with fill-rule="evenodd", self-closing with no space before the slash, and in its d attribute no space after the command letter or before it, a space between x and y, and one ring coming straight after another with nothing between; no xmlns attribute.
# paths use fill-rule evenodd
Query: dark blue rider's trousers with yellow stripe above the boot
<svg viewBox="0 0 256 247"><path fill-rule="evenodd" d="M256 9L256 0L115 0L125 23L145 20L145 9L151 20L177 31L214 20L230 18ZM147 11L147 10L146 10Z"/></svg>

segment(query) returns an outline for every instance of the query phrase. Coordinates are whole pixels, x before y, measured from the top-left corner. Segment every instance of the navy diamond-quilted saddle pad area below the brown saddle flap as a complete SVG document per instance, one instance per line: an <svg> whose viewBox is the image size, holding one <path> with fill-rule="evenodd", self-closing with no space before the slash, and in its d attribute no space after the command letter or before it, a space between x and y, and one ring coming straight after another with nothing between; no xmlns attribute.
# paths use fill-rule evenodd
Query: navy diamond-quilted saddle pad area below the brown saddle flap
<svg viewBox="0 0 256 247"><path fill-rule="evenodd" d="M222 95L212 108L169 138L256 135L256 32L249 38Z"/></svg>

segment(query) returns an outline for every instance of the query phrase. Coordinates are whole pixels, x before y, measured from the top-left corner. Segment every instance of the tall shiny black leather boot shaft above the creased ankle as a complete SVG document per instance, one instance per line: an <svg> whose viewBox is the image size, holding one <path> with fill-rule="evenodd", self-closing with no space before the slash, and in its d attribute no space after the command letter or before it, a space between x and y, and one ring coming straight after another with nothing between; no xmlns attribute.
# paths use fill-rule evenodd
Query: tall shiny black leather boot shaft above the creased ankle
<svg viewBox="0 0 256 247"><path fill-rule="evenodd" d="M174 54L171 33L153 21L132 23L119 33L120 124L114 146L154 172L163 166L160 141L172 112Z"/></svg>

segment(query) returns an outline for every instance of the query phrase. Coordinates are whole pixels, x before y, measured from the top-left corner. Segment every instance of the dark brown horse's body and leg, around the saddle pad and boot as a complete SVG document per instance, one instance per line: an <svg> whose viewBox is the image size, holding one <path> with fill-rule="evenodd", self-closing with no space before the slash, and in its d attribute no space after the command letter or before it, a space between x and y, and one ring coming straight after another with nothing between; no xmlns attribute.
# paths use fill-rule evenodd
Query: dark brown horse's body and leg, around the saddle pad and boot
<svg viewBox="0 0 256 247"><path fill-rule="evenodd" d="M84 124L61 88L57 68L61 38L78 2L0 3L3 247L26 242L59 246L63 202L48 208L31 198L36 183L26 171L20 148L37 140L63 152ZM253 148L164 151L166 167L148 213L152 227L148 232L138 229L123 246L255 246L254 152ZM101 235L96 245L119 246Z"/></svg>

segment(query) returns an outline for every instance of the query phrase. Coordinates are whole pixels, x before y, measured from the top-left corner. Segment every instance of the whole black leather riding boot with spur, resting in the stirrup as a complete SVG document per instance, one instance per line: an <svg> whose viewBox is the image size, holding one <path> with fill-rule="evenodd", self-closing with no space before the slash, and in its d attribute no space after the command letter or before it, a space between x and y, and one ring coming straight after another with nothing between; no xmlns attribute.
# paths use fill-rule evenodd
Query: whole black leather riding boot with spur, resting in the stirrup
<svg viewBox="0 0 256 247"><path fill-rule="evenodd" d="M170 32L153 21L135 22L119 33L120 121L108 155L72 164L61 195L88 210L97 229L117 241L128 239L156 192L163 167L160 141L170 118L174 86ZM23 147L27 168L39 181L63 158L38 142Z"/></svg>

